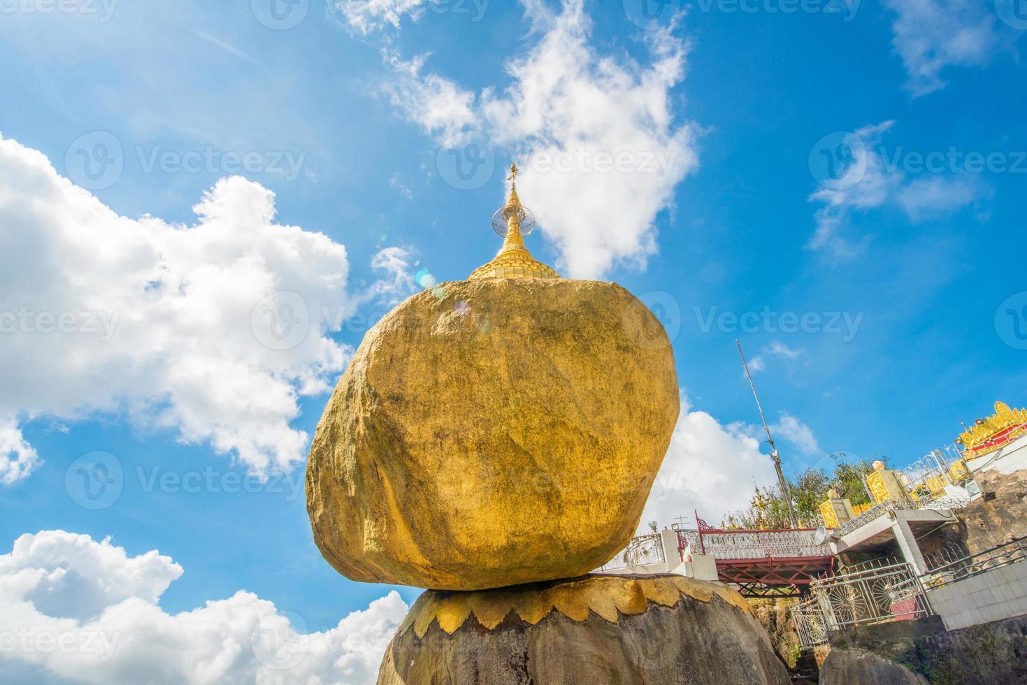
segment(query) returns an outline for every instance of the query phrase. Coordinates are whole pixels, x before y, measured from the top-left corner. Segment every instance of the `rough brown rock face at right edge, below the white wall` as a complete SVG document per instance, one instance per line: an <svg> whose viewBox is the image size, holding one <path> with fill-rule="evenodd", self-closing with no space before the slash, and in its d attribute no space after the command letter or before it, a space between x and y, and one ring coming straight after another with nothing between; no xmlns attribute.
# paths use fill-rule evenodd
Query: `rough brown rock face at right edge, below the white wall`
<svg viewBox="0 0 1027 685"><path fill-rule="evenodd" d="M975 480L982 497L959 512L971 553L1027 535L1027 470L985 471Z"/></svg>

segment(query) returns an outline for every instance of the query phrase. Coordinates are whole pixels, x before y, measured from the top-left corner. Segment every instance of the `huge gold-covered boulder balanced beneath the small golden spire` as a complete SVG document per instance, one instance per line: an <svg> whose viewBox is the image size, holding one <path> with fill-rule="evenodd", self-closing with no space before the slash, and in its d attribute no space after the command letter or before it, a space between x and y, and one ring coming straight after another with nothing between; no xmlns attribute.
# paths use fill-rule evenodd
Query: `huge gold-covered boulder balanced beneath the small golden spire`
<svg viewBox="0 0 1027 685"><path fill-rule="evenodd" d="M635 533L679 408L667 334L621 287L442 283L368 333L325 410L314 540L366 582L587 573Z"/></svg>

